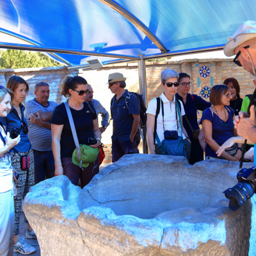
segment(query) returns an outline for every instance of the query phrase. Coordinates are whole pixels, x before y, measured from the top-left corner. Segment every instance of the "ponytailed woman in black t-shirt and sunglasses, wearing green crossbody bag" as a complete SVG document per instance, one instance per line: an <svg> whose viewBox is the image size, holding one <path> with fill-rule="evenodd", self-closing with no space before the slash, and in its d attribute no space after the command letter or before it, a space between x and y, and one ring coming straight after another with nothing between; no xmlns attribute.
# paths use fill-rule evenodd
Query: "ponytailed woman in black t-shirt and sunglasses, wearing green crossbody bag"
<svg viewBox="0 0 256 256"><path fill-rule="evenodd" d="M90 138L95 138L97 144L90 145L90 147L99 147L101 135L97 114L91 103L84 102L88 92L87 81L80 76L68 76L63 80L61 87L61 94L69 97L67 100L68 106L76 127L79 145L88 143ZM72 163L72 154L76 145L64 102L54 109L50 123L55 176L66 175L76 186L80 178L81 187L83 188L92 180L95 174L99 173L99 156L85 170Z"/></svg>

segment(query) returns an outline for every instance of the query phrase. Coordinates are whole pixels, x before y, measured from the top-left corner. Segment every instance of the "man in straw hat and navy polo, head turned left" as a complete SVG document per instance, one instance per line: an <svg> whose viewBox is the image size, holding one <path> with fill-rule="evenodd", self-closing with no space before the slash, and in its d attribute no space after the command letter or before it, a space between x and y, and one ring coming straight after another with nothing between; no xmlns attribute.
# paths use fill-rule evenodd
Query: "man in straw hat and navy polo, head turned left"
<svg viewBox="0 0 256 256"><path fill-rule="evenodd" d="M139 153L140 100L125 90L126 78L121 73L109 74L108 88L115 96L111 99L113 119L112 162L125 154ZM129 97L129 106L127 106Z"/></svg>

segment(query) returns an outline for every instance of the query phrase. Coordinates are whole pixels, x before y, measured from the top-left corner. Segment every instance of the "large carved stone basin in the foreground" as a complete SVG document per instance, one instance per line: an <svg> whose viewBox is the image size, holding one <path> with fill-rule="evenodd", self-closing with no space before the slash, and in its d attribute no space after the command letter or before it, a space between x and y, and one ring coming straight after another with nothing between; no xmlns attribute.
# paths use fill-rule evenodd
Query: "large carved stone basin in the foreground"
<svg viewBox="0 0 256 256"><path fill-rule="evenodd" d="M255 196L233 212L223 194L238 165L127 155L83 189L63 175L40 182L23 209L43 256L255 256Z"/></svg>

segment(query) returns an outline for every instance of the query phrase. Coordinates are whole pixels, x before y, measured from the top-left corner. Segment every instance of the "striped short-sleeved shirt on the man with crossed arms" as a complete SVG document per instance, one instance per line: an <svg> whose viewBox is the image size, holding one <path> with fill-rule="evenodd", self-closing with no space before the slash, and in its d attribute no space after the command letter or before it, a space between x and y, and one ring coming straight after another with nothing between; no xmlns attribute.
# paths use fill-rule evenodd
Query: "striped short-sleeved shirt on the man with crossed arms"
<svg viewBox="0 0 256 256"><path fill-rule="evenodd" d="M38 151L52 150L52 132L51 130L44 128L40 125L36 125L30 122L29 116L42 110L43 112L54 111L58 103L48 101L48 106L43 106L36 102L35 99L29 100L26 103L25 116L28 122L28 138L31 142L32 148Z"/></svg>

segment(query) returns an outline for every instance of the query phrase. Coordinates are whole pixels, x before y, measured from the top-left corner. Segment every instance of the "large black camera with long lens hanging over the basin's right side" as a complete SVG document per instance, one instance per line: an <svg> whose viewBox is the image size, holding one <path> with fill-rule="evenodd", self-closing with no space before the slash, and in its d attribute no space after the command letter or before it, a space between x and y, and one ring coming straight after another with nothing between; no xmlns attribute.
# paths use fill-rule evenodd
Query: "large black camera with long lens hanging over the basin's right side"
<svg viewBox="0 0 256 256"><path fill-rule="evenodd" d="M223 193L230 200L228 207L232 211L236 211L244 202L251 198L255 193L256 188L256 167L243 168L237 172L236 178L238 183L233 188L228 188Z"/></svg>

